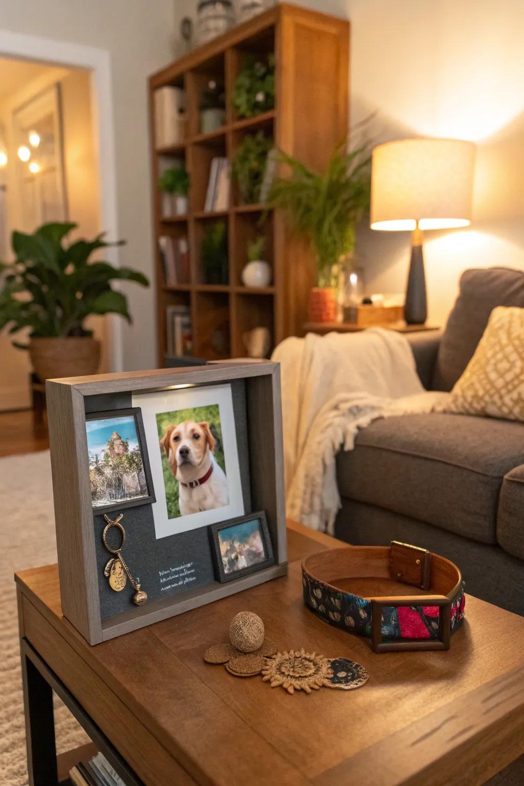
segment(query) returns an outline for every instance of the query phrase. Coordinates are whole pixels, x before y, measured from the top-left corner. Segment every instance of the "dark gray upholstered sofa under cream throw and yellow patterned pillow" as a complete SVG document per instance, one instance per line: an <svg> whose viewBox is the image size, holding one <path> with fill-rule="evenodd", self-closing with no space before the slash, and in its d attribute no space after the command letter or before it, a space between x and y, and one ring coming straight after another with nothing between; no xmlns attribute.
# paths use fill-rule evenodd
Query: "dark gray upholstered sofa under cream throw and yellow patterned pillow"
<svg viewBox="0 0 524 786"><path fill-rule="evenodd" d="M524 307L524 274L467 270L444 332L407 336L424 387L453 387L496 306ZM382 419L339 454L337 476L338 538L438 552L460 566L467 592L524 615L524 424L441 413Z"/></svg>

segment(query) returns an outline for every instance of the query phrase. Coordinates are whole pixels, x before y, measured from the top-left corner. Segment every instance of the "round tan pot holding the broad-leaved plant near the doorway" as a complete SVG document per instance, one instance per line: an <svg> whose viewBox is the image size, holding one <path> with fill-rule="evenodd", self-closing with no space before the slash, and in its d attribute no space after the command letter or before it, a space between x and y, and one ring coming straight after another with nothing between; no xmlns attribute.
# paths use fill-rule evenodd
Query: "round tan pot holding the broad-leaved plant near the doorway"
<svg viewBox="0 0 524 786"><path fill-rule="evenodd" d="M29 356L40 380L97 373L100 341L90 336L31 339Z"/></svg>

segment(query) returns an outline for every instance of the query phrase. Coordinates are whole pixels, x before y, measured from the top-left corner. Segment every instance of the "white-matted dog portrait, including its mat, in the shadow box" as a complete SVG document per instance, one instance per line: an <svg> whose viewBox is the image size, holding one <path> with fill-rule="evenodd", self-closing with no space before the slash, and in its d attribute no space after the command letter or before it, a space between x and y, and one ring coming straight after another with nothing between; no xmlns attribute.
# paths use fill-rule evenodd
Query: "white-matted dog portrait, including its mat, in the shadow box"
<svg viewBox="0 0 524 786"><path fill-rule="evenodd" d="M244 514L230 384L133 396L155 484L156 538Z"/></svg>

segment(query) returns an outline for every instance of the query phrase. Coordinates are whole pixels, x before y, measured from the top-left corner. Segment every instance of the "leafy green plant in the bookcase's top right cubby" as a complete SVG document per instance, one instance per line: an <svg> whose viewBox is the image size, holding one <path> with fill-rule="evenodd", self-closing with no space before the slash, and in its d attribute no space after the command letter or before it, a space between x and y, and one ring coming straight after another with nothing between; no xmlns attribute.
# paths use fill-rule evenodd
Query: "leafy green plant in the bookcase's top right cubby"
<svg viewBox="0 0 524 786"><path fill-rule="evenodd" d="M266 60L250 57L240 69L233 86L237 117L255 117L275 106L275 56Z"/></svg>

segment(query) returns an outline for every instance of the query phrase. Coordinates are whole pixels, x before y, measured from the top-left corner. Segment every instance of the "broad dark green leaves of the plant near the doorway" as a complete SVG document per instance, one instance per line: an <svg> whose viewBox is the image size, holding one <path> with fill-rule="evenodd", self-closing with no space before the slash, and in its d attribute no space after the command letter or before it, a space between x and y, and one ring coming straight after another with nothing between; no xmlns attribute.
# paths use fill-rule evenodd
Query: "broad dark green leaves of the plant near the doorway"
<svg viewBox="0 0 524 786"><path fill-rule="evenodd" d="M16 259L0 263L0 329L9 325L9 333L16 333L28 328L30 338L92 336L83 324L90 314L121 314L131 321L126 296L113 289L111 281L135 281L147 287L148 279L129 267L90 263L93 252L123 241L106 243L101 234L92 241L65 244L76 227L73 223L49 223L32 234L13 232Z"/></svg>

